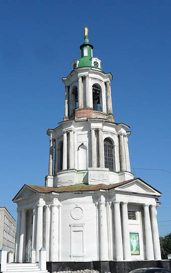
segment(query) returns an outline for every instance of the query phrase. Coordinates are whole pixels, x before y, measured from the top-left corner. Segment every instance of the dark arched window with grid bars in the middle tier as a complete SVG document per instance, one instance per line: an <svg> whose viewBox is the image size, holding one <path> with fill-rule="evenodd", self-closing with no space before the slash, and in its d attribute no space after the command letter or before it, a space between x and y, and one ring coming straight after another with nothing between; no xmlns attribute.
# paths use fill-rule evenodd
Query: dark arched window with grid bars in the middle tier
<svg viewBox="0 0 171 273"><path fill-rule="evenodd" d="M104 140L105 168L115 170L114 165L114 146L110 139Z"/></svg>

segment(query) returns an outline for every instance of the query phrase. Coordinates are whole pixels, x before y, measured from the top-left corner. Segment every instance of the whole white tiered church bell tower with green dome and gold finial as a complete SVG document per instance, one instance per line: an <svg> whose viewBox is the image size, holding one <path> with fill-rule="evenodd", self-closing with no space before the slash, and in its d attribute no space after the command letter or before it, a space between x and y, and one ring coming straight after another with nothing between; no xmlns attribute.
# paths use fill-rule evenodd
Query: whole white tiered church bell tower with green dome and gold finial
<svg viewBox="0 0 171 273"><path fill-rule="evenodd" d="M116 123L112 74L93 57L85 27L81 58L65 85L63 121L48 129L45 186L24 185L18 205L16 261L31 249L47 261L159 260L156 217L160 192L130 170L130 127Z"/></svg>

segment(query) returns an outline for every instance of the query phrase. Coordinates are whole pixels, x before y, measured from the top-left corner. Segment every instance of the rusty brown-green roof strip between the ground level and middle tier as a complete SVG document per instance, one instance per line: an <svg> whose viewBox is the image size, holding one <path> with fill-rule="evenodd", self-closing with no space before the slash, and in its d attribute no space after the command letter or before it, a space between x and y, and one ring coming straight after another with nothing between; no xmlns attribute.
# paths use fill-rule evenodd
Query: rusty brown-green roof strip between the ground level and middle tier
<svg viewBox="0 0 171 273"><path fill-rule="evenodd" d="M87 185L87 184L76 184L73 186L60 186L57 188L53 187L44 187L44 186L36 186L36 185L28 185L28 187L34 189L35 191L39 193L51 193L51 192L56 192L56 193L61 193L61 192L83 192L83 191L97 191L97 190L109 190L112 188L116 188L117 186L126 184L130 181L133 181L134 179L126 180L117 184L110 184L110 185L105 185L105 184L98 184L98 185Z"/></svg>

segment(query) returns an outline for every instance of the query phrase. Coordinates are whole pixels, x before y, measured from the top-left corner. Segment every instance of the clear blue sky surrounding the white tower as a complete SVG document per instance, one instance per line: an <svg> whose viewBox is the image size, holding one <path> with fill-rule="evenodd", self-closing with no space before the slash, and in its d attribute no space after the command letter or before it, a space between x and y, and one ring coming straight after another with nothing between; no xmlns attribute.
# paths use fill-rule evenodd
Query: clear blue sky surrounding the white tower
<svg viewBox="0 0 171 273"><path fill-rule="evenodd" d="M85 24L94 56L113 74L116 122L131 127L132 172L162 192L158 221L165 235L171 230L170 0L0 1L1 206L16 218L11 200L21 187L44 185L46 130L63 118L61 78L80 58Z"/></svg>

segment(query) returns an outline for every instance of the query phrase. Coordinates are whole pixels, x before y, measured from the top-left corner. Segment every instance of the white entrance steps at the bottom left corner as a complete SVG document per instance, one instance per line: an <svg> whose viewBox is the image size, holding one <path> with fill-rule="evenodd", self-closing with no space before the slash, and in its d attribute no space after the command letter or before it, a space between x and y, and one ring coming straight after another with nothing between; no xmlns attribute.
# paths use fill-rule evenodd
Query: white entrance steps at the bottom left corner
<svg viewBox="0 0 171 273"><path fill-rule="evenodd" d="M47 270L40 270L38 263L7 263L7 271L2 273L7 272L48 273Z"/></svg>

